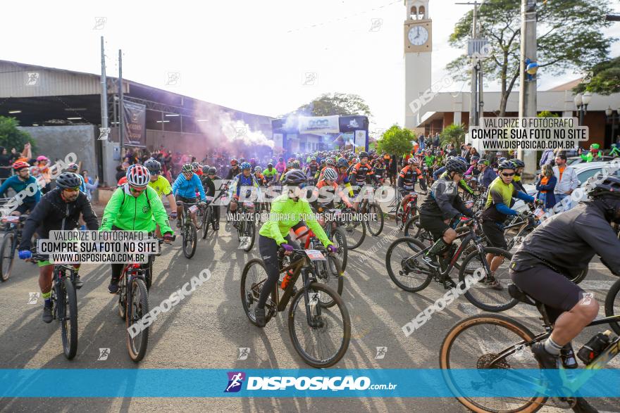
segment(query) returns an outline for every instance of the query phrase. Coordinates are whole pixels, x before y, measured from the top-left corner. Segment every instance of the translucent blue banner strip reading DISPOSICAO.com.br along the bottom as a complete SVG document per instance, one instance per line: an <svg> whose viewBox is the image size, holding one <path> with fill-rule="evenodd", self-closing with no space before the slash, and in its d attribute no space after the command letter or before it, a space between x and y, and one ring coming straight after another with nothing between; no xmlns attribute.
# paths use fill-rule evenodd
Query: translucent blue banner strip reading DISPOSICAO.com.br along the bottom
<svg viewBox="0 0 620 413"><path fill-rule="evenodd" d="M0 369L0 398L620 397L619 369Z"/></svg>

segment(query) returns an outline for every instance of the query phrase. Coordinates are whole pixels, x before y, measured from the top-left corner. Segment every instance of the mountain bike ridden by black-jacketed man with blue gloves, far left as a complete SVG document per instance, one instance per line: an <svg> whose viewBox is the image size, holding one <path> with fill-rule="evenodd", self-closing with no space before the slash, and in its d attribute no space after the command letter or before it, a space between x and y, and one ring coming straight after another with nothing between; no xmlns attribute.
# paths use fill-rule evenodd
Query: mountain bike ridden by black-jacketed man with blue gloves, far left
<svg viewBox="0 0 620 413"><path fill-rule="evenodd" d="M42 255L33 248L32 261L47 261L49 255ZM51 284L51 305L54 319L61 324L63 352L68 360L77 353L77 293L75 293L75 267L73 265L54 265L54 278Z"/></svg>

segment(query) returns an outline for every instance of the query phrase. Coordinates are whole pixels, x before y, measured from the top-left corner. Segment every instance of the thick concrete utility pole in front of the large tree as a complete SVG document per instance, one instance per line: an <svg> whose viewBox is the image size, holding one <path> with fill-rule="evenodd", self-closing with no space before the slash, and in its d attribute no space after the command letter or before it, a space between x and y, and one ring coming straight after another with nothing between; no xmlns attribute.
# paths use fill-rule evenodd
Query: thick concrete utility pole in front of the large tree
<svg viewBox="0 0 620 413"><path fill-rule="evenodd" d="M519 84L519 117L536 117L536 77L528 80L526 60L538 61L536 44L536 0L521 0L521 77ZM536 171L536 151L519 149L519 159L526 164L524 177L533 177Z"/></svg>

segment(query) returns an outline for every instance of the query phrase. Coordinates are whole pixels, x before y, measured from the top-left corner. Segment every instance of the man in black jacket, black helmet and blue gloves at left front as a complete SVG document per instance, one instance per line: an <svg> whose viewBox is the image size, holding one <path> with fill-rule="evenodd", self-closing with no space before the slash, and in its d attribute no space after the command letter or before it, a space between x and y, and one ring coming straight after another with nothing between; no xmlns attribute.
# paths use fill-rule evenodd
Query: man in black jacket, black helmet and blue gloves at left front
<svg viewBox="0 0 620 413"><path fill-rule="evenodd" d="M32 257L30 239L37 232L40 239L49 239L49 231L75 229L80 226L80 214L84 217L88 229L97 231L99 222L97 215L80 191L82 179L77 174L63 172L56 178L56 188L46 193L32 213L28 215L22 230L22 241L18 246L19 258L27 260ZM51 323L51 280L54 265L49 261L38 262L39 288L43 297L43 322ZM77 274L80 265L75 265L75 288L82 288L82 280Z"/></svg>

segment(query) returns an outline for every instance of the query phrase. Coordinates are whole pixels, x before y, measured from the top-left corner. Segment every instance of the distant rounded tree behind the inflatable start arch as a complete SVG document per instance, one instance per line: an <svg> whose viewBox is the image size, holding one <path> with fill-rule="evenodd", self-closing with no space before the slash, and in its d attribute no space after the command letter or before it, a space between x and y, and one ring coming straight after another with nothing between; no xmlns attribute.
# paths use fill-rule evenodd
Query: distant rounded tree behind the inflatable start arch
<svg viewBox="0 0 620 413"><path fill-rule="evenodd" d="M330 116L330 115L366 115L371 117L368 105L356 94L323 94L310 103L299 106L294 111L299 115Z"/></svg>

